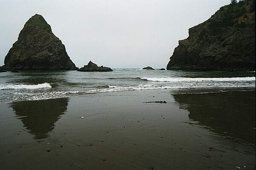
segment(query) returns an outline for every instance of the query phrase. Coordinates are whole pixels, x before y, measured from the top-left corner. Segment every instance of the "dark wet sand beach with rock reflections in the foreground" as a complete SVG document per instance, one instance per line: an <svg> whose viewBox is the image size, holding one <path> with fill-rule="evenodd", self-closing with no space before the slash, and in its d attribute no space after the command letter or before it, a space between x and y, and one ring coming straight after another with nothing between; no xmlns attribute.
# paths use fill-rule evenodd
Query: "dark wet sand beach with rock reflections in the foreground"
<svg viewBox="0 0 256 170"><path fill-rule="evenodd" d="M255 168L255 91L3 103L0 129L3 170Z"/></svg>

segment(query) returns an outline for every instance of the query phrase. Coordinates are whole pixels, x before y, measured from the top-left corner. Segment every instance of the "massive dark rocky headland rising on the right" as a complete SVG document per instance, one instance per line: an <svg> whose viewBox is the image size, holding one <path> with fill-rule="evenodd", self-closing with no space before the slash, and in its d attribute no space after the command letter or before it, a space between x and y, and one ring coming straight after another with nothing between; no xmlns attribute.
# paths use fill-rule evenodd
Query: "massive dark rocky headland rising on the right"
<svg viewBox="0 0 256 170"><path fill-rule="evenodd" d="M255 0L223 6L190 28L167 70L255 71Z"/></svg>

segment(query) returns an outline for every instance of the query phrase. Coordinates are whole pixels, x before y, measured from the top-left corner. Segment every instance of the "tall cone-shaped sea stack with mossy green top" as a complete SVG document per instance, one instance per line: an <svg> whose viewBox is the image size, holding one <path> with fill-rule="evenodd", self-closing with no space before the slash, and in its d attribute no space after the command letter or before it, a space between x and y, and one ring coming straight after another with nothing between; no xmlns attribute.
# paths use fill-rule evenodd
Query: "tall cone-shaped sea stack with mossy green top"
<svg viewBox="0 0 256 170"><path fill-rule="evenodd" d="M17 70L77 70L65 46L41 15L31 17L4 59Z"/></svg>

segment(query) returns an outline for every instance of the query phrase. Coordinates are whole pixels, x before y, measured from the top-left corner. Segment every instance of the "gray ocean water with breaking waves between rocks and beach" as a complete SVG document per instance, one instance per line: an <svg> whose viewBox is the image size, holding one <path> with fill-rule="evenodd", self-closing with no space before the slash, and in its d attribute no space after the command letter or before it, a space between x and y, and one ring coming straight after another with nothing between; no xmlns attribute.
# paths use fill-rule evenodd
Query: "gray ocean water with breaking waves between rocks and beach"
<svg viewBox="0 0 256 170"><path fill-rule="evenodd" d="M255 72L113 69L0 73L0 103L149 89L170 89L173 94L252 91Z"/></svg>

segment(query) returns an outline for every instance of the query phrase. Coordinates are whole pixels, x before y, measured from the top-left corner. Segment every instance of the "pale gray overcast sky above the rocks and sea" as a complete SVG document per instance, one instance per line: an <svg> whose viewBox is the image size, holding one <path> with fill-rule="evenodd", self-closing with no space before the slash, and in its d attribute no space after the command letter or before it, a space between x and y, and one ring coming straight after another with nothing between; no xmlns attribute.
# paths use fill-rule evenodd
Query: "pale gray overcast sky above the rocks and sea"
<svg viewBox="0 0 256 170"><path fill-rule="evenodd" d="M230 0L0 0L0 65L41 14L77 67L166 68L178 40Z"/></svg>

